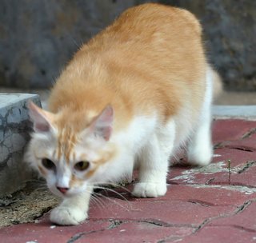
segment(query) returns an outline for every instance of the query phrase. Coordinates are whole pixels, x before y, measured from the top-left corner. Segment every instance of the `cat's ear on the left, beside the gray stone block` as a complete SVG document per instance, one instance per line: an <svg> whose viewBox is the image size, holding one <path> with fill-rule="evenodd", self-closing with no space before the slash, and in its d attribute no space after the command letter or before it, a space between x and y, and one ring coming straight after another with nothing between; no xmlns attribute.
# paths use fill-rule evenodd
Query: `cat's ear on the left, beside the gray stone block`
<svg viewBox="0 0 256 243"><path fill-rule="evenodd" d="M28 107L30 110L30 119L34 124L34 131L38 133L49 132L52 128L53 114L42 110L33 102L29 102Z"/></svg>

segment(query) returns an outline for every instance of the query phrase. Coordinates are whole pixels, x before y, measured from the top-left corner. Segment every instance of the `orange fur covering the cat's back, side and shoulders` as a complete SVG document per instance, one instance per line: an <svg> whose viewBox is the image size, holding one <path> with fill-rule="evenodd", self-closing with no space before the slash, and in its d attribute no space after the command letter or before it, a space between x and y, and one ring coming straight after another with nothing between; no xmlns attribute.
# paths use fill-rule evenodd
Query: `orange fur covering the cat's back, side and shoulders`
<svg viewBox="0 0 256 243"><path fill-rule="evenodd" d="M82 46L58 78L49 107L62 111L60 126L75 130L90 122L86 113L97 115L107 104L114 107L114 129L154 110L166 121L183 100L199 109L205 73L196 18L186 10L146 4L126 10Z"/></svg>

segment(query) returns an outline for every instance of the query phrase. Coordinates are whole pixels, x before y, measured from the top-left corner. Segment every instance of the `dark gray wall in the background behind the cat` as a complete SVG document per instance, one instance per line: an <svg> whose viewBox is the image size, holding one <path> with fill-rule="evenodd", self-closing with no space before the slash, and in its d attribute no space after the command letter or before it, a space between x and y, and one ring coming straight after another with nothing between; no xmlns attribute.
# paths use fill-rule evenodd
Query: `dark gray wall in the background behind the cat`
<svg viewBox="0 0 256 243"><path fill-rule="evenodd" d="M82 42L143 0L0 0L0 86L47 88ZM256 1L151 1L200 18L228 90L256 90ZM254 49L253 49L254 48Z"/></svg>

